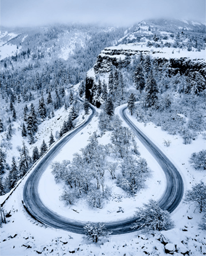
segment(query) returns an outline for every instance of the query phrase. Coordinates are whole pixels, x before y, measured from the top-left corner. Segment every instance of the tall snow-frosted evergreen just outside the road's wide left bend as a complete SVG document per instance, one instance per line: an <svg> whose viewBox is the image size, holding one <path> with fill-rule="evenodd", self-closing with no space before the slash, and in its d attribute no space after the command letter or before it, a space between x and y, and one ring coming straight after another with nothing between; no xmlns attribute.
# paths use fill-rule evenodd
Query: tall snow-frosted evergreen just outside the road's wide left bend
<svg viewBox="0 0 206 256"><path fill-rule="evenodd" d="M22 148L20 152L20 160L19 160L19 176L20 179L27 173L30 168L31 157L29 155L29 151L24 141L22 142Z"/></svg>

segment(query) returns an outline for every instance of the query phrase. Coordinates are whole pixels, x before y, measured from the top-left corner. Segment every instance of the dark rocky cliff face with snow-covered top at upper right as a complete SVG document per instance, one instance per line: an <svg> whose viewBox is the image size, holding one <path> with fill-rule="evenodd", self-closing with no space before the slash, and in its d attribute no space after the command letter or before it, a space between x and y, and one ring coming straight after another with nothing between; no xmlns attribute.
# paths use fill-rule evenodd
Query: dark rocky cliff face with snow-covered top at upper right
<svg viewBox="0 0 206 256"><path fill-rule="evenodd" d="M191 72L200 72L203 77L206 76L205 51L190 52L186 49L149 48L143 44L123 44L105 48L99 54L93 69L87 73L86 98L93 103L97 77L108 77L112 67L116 67L118 70L127 67L134 59L138 58L140 53L143 54L143 57L149 54L153 66L158 72L162 73L162 70L166 70L169 77L175 76L178 72L181 76L188 76ZM101 104L97 105L99 107Z"/></svg>

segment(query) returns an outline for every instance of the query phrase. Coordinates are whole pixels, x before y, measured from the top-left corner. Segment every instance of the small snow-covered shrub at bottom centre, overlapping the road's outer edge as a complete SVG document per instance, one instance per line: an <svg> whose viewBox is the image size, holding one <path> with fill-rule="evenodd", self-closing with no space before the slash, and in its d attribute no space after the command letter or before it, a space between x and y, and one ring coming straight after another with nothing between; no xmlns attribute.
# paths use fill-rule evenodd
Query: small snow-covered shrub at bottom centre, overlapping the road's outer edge
<svg viewBox="0 0 206 256"><path fill-rule="evenodd" d="M104 223L87 223L84 226L86 239L91 242L98 242L99 239L106 239L112 232L107 231Z"/></svg>

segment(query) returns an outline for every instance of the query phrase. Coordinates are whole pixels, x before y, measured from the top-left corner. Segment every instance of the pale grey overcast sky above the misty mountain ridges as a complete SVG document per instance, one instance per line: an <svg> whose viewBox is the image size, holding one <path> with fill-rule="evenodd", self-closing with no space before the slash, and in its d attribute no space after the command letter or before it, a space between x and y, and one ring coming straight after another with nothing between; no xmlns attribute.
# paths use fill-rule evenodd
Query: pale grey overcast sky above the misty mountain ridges
<svg viewBox="0 0 206 256"><path fill-rule="evenodd" d="M147 18L205 22L205 0L1 0L1 25L56 22L130 25Z"/></svg>

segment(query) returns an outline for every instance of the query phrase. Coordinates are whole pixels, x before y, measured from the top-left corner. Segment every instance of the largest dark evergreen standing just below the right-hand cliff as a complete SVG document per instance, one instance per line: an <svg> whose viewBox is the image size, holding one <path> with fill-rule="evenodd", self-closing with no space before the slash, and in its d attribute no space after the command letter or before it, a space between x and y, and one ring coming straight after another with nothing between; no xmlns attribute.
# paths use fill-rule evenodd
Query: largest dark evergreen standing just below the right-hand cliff
<svg viewBox="0 0 206 256"><path fill-rule="evenodd" d="M158 101L158 86L156 85L156 80L153 77L153 73L151 73L148 76L148 79L146 80L146 106L150 108L151 106L155 105L155 103Z"/></svg>

